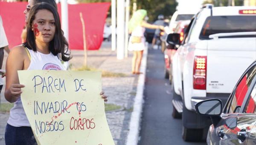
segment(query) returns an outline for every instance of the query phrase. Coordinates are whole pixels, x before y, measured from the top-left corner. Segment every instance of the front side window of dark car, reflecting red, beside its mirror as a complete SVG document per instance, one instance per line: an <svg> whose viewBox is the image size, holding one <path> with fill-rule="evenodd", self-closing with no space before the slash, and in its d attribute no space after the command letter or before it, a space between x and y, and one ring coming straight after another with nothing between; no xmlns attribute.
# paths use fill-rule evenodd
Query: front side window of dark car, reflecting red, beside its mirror
<svg viewBox="0 0 256 145"><path fill-rule="evenodd" d="M237 108L241 107L242 102L244 101L244 97L248 91L248 88L251 85L251 82L256 74L256 66L251 68L241 81L236 85L236 89L233 92L233 96L231 98L231 102L228 105L228 112L227 113L237 113L239 110Z"/></svg>

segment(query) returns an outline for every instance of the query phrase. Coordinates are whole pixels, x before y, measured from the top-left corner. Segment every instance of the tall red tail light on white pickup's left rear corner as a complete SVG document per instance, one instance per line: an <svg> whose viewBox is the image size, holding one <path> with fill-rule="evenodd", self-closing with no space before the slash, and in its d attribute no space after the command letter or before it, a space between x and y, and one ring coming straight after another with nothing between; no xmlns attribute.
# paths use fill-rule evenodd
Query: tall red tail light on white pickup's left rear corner
<svg viewBox="0 0 256 145"><path fill-rule="evenodd" d="M193 88L206 89L207 56L195 56L193 69Z"/></svg>

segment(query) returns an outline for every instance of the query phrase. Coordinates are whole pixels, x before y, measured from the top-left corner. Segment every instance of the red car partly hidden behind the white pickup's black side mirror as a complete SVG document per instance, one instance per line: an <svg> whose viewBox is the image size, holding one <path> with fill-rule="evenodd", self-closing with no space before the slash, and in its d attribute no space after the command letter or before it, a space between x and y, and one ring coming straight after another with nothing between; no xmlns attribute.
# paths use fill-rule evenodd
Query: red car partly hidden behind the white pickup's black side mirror
<svg viewBox="0 0 256 145"><path fill-rule="evenodd" d="M177 23L177 26L174 30L174 33L180 34L180 43L184 40L184 32L186 28L189 26L190 20L181 20ZM164 59L165 59L165 67L164 67L164 76L166 79L169 79L170 83L172 83L172 58L177 50L177 47L172 44L168 44L164 49Z"/></svg>

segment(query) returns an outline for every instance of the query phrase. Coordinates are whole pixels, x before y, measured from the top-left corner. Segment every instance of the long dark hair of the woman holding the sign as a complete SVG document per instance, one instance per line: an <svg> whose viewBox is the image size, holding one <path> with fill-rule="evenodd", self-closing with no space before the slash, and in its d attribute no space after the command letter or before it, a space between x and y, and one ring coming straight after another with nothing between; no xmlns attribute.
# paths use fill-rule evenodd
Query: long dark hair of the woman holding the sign
<svg viewBox="0 0 256 145"><path fill-rule="evenodd" d="M68 43L61 30L60 17L58 15L57 9L55 9L55 7L51 6L49 3L37 3L32 6L31 10L29 11L26 42L23 43L23 45L35 52L37 51L35 36L34 32L32 31L32 25L33 21L35 20L35 14L42 9L46 9L52 12L55 20L55 34L52 41L49 42L49 51L51 51L55 56L61 53L61 59L63 61L70 60L70 53L68 53Z"/></svg>

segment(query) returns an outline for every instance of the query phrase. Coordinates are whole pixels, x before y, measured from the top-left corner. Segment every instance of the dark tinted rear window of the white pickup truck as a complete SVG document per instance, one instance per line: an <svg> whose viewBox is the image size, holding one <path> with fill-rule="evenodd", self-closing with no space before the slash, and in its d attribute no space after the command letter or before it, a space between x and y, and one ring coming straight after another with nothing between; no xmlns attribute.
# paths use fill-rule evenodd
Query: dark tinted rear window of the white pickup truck
<svg viewBox="0 0 256 145"><path fill-rule="evenodd" d="M207 17L200 33L200 39L209 39L217 33L256 31L256 16L211 16Z"/></svg>

